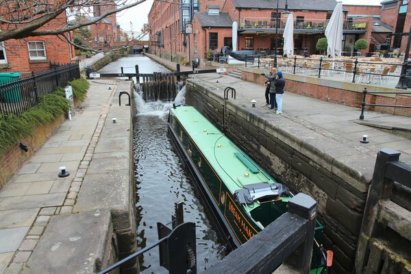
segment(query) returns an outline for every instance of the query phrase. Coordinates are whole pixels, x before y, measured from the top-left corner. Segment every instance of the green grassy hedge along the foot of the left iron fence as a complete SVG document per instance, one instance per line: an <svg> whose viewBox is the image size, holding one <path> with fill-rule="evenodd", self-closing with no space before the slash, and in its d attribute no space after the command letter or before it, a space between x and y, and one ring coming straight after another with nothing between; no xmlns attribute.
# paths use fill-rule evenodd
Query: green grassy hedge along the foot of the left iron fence
<svg viewBox="0 0 411 274"><path fill-rule="evenodd" d="M73 94L80 101L86 98L90 84L86 79L75 79L69 82L73 86ZM44 95L39 103L23 114L0 115L0 154L10 149L22 138L30 136L39 125L51 123L58 116L69 111L69 101L66 100L64 88Z"/></svg>

